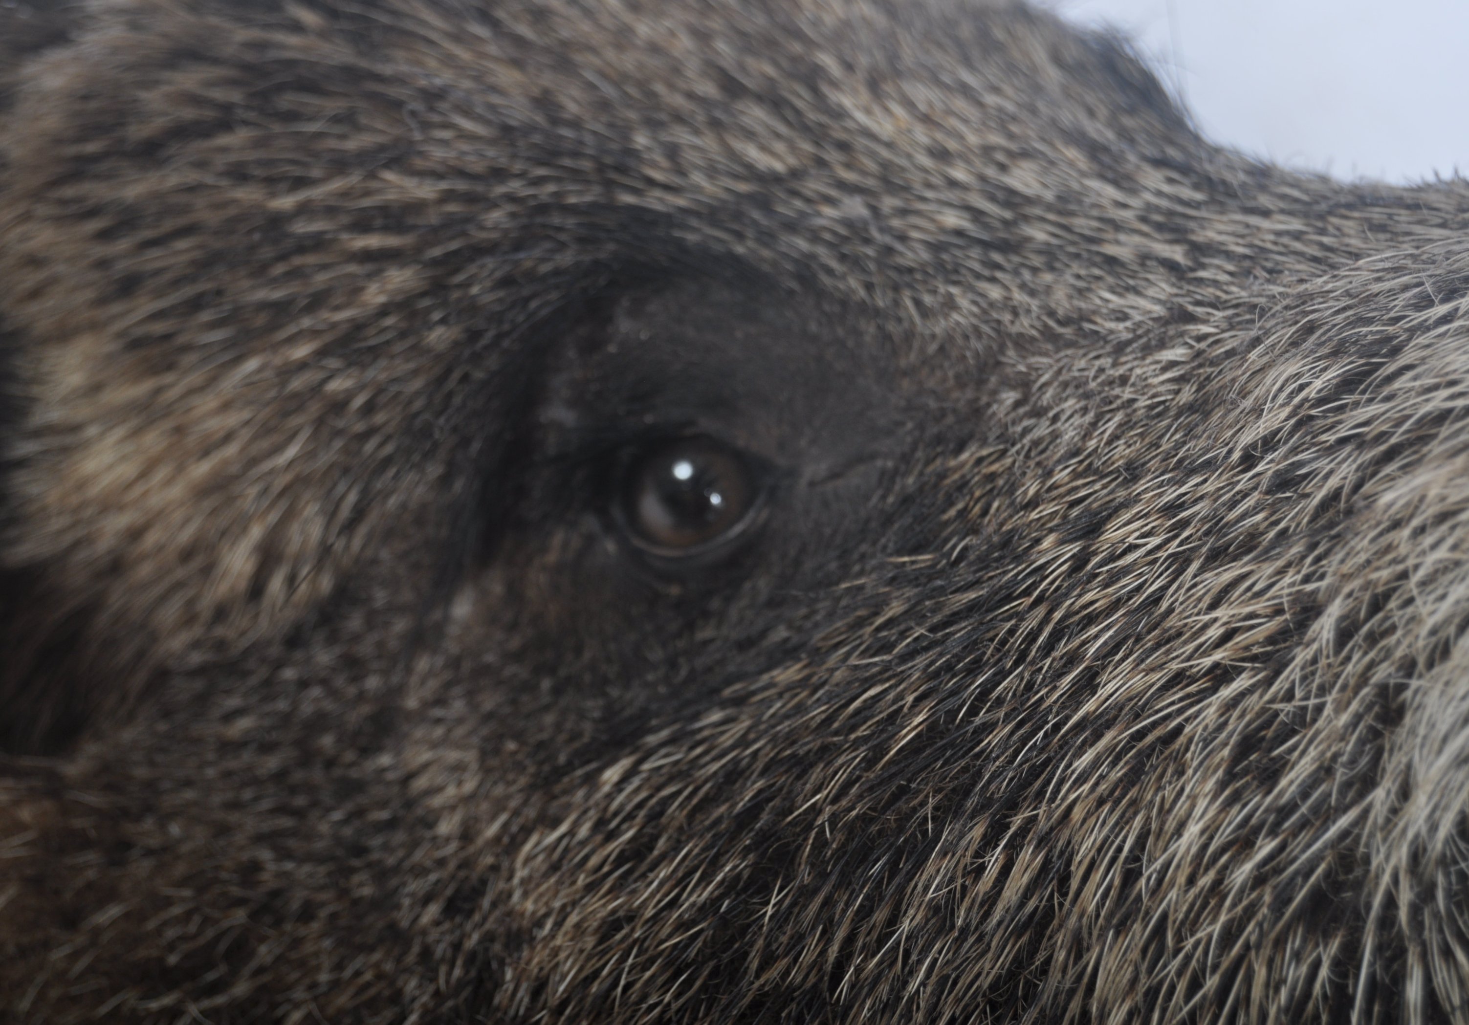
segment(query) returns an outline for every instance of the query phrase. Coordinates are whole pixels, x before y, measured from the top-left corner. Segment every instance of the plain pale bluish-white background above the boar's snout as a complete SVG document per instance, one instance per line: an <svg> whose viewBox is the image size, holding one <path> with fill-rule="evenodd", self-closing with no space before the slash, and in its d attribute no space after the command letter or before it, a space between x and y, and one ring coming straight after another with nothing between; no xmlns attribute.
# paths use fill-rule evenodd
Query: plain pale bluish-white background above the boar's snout
<svg viewBox="0 0 1469 1025"><path fill-rule="evenodd" d="M1050 0L1124 29L1205 135L1337 178L1469 176L1469 0Z"/></svg>

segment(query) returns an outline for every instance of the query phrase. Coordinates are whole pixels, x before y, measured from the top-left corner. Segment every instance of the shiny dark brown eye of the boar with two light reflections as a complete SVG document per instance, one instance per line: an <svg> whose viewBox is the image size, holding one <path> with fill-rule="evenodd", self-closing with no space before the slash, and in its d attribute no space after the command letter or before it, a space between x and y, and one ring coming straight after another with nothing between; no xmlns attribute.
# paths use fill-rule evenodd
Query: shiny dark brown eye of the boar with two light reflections
<svg viewBox="0 0 1469 1025"><path fill-rule="evenodd" d="M671 558L743 533L758 499L749 461L712 438L680 438L638 452L617 498L630 539Z"/></svg>

